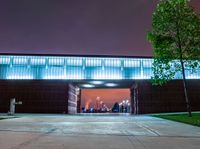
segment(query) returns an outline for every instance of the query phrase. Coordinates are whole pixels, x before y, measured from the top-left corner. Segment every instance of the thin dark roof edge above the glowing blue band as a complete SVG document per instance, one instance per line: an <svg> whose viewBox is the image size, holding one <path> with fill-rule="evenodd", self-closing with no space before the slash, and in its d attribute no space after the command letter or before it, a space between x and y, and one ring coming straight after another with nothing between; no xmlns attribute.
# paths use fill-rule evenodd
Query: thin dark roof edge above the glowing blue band
<svg viewBox="0 0 200 149"><path fill-rule="evenodd" d="M16 56L59 56L59 57L111 57L111 58L153 58L153 56L126 56L126 55L82 55L82 54L30 54L30 53L0 53L0 55Z"/></svg>

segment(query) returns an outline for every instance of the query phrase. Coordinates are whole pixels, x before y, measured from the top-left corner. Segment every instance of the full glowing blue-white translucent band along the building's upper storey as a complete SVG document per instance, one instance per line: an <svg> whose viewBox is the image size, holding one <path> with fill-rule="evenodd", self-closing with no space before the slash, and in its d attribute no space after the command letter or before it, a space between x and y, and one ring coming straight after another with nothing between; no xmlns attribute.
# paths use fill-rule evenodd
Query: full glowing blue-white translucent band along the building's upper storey
<svg viewBox="0 0 200 149"><path fill-rule="evenodd" d="M0 79L150 79L152 62L150 58L0 55ZM185 72L187 79L200 79L200 69ZM181 73L175 75L175 79L181 78Z"/></svg>

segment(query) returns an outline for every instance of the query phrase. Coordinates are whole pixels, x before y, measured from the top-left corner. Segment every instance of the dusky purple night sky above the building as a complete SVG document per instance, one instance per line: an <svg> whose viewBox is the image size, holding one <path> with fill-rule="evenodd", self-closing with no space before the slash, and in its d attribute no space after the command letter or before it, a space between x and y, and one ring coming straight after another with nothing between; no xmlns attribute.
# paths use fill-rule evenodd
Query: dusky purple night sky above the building
<svg viewBox="0 0 200 149"><path fill-rule="evenodd" d="M157 2L0 0L0 53L151 56L146 32Z"/></svg>

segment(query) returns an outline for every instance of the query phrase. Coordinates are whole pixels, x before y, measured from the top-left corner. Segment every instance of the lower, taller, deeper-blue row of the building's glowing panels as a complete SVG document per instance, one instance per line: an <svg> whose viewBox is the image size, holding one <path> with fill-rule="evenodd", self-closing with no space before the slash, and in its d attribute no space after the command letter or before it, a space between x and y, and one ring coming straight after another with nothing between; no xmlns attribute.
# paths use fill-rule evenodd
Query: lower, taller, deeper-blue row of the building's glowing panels
<svg viewBox="0 0 200 149"><path fill-rule="evenodd" d="M150 79L152 76L151 69L144 69L143 71L138 71L131 69L126 73L122 73L118 69L101 69L86 71L84 73L80 69L42 69L40 71L35 71L34 69L26 68L13 68L1 70L1 79ZM35 77L36 78L35 78ZM37 78L40 76L41 78ZM181 78L181 74L177 73L176 79ZM194 74L191 74L189 70L186 71L186 77L188 79L200 79L200 70Z"/></svg>

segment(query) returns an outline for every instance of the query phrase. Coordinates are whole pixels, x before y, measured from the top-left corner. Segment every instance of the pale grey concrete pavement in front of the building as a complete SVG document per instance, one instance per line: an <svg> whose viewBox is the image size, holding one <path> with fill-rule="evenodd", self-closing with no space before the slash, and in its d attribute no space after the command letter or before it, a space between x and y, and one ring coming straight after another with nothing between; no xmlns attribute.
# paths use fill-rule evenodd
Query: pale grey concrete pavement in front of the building
<svg viewBox="0 0 200 149"><path fill-rule="evenodd" d="M199 127L149 116L20 115L0 120L1 149L199 147Z"/></svg>

